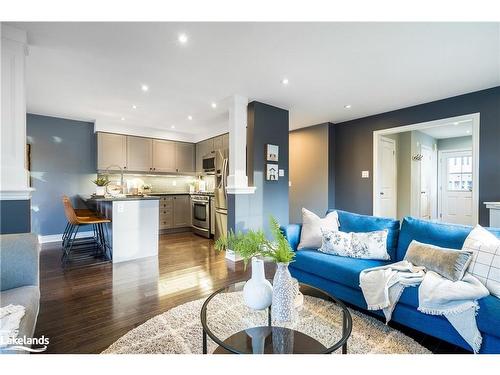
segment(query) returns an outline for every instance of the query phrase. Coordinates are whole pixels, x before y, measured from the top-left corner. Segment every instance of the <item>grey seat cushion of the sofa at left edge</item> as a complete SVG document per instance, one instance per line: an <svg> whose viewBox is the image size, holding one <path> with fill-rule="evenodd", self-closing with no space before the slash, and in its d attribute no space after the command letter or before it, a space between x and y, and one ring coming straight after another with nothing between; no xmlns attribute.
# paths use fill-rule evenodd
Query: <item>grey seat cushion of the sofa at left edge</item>
<svg viewBox="0 0 500 375"><path fill-rule="evenodd" d="M40 301L40 291L37 286L22 286L19 288L4 290L0 292L0 307L10 304L24 306L25 313L19 324L18 337L33 337L35 332L36 318L38 316L38 306ZM20 351L2 352L23 353Z"/></svg>

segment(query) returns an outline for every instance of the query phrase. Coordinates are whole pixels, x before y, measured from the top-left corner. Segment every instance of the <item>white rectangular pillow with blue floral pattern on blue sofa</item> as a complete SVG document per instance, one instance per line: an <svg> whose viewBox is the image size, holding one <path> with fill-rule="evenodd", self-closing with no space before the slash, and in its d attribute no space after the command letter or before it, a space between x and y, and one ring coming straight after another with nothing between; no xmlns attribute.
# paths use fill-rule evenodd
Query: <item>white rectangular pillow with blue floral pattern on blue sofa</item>
<svg viewBox="0 0 500 375"><path fill-rule="evenodd" d="M387 234L387 229L366 233L324 231L318 250L349 258L388 260Z"/></svg>

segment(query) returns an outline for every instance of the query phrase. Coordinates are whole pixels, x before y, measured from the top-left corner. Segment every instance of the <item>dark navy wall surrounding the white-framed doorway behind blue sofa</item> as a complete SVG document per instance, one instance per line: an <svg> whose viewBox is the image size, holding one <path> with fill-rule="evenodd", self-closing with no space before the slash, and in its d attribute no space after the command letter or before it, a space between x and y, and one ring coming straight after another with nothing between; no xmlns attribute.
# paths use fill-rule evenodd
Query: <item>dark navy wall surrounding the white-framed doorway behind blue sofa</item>
<svg viewBox="0 0 500 375"><path fill-rule="evenodd" d="M331 125L335 132L332 140L335 148L334 206L342 210L372 214L374 130L478 112L479 223L489 225L488 210L483 202L500 200L500 86ZM370 171L369 179L361 179L362 170Z"/></svg>

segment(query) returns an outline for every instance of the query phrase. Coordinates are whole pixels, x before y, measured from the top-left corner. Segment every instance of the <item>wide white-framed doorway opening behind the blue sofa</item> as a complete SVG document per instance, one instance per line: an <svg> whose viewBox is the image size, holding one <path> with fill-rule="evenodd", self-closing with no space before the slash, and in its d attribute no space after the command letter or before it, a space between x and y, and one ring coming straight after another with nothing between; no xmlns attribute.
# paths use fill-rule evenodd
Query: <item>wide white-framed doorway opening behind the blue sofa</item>
<svg viewBox="0 0 500 375"><path fill-rule="evenodd" d="M373 152L375 216L478 222L478 113L375 131Z"/></svg>

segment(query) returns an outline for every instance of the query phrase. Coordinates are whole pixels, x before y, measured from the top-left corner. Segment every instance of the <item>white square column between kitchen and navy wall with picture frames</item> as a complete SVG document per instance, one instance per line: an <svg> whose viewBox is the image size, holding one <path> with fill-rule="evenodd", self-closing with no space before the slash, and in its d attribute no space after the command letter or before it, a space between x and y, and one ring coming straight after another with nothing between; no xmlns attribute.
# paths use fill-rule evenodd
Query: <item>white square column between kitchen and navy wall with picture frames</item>
<svg viewBox="0 0 500 375"><path fill-rule="evenodd" d="M229 111L229 176L226 190L229 194L252 194L246 171L248 99L233 95L227 100Z"/></svg>

